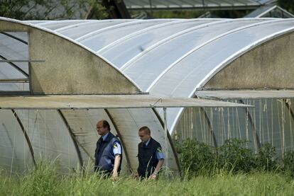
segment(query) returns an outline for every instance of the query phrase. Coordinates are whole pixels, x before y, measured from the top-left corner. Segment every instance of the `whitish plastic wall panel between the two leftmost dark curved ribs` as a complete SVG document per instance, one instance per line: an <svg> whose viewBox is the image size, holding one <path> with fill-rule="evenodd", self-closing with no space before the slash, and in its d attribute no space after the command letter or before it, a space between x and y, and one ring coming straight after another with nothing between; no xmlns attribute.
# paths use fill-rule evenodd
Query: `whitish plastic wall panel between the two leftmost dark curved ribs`
<svg viewBox="0 0 294 196"><path fill-rule="evenodd" d="M79 168L72 138L56 110L16 110L16 114L26 129L36 161L55 161L62 173Z"/></svg>

